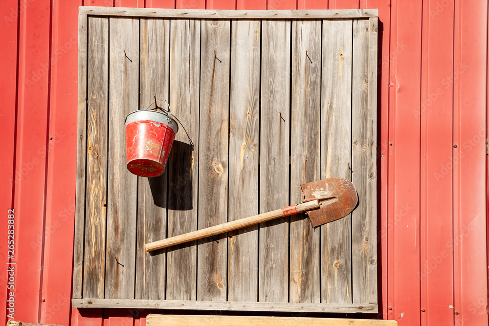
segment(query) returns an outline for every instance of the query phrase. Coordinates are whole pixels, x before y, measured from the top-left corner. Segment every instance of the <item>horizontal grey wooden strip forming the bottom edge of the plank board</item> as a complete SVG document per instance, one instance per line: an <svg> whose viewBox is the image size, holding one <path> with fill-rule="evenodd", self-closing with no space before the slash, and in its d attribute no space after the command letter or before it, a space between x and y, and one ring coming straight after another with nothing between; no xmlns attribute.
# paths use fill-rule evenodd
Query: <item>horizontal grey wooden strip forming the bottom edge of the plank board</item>
<svg viewBox="0 0 489 326"><path fill-rule="evenodd" d="M75 308L135 308L226 311L289 311L378 313L377 304L311 304L279 302L184 301L184 300L131 300L131 299L72 299Z"/></svg>

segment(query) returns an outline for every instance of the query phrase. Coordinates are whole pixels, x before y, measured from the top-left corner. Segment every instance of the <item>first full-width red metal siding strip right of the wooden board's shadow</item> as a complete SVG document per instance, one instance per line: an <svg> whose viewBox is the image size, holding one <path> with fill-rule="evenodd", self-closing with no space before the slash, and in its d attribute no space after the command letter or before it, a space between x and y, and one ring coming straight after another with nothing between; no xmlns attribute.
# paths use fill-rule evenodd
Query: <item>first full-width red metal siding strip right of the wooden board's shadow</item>
<svg viewBox="0 0 489 326"><path fill-rule="evenodd" d="M390 69L388 319L419 325L421 2L393 3L391 19L391 50L400 42L406 50Z"/></svg>

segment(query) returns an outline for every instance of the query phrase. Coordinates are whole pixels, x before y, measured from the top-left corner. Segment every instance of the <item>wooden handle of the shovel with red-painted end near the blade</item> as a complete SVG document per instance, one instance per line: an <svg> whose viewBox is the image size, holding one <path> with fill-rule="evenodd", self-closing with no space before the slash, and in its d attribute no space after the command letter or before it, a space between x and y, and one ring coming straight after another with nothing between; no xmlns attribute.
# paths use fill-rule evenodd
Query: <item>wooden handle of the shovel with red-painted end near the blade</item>
<svg viewBox="0 0 489 326"><path fill-rule="evenodd" d="M284 217L299 212L309 211L311 209L318 208L319 205L320 205L319 200L311 200L305 203L300 203L297 205L276 209L271 212L245 217L245 218L234 220L232 222L222 223L205 229L189 232L186 234L182 234L180 236L146 243L145 246L146 251L153 251L157 249L170 247L176 244L185 243L188 241L213 237L224 232L241 229L245 226L266 222L278 217Z"/></svg>

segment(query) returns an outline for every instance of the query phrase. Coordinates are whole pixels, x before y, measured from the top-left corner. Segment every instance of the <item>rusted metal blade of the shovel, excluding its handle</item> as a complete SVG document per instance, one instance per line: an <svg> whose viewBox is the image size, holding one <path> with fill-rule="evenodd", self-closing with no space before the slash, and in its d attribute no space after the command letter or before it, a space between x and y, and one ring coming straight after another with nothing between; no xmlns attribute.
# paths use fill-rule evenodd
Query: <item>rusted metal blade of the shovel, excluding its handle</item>
<svg viewBox="0 0 489 326"><path fill-rule="evenodd" d="M343 178L326 178L301 185L304 201L336 196L321 201L321 207L306 213L313 227L345 217L356 207L358 196L353 184Z"/></svg>

